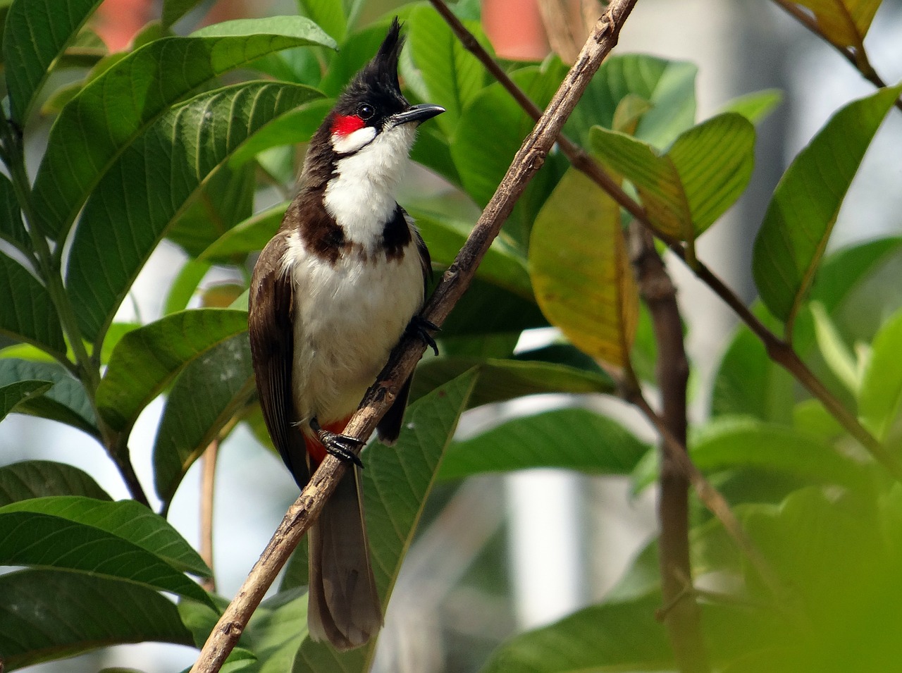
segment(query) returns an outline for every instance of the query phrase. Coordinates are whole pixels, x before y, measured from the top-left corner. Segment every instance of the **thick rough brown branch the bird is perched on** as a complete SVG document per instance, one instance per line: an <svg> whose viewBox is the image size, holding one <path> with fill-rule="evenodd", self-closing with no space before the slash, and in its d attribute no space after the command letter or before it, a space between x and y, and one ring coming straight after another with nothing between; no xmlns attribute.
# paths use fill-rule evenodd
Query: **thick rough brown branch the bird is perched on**
<svg viewBox="0 0 902 673"><path fill-rule="evenodd" d="M545 114L523 142L492 200L457 254L455 263L438 284L423 311L424 318L441 325L455 302L464 294L473 280L476 267L501 230L505 218L511 214L517 198L545 161L567 116L583 95L603 58L617 43L621 26L636 2L637 0L613 0L595 24L573 68L567 73ZM400 385L413 371L424 349L425 346L413 338L404 339L395 348L389 364L367 392L360 409L345 428L345 434L357 438L367 438L372 434L376 423L391 406ZM260 604L263 594L291 551L298 545L310 522L318 516L323 502L335 490L344 472L345 465L333 456L327 456L319 466L298 500L286 513L235 600L229 604L216 628L210 633L198 661L191 668L193 673L214 673L219 670L228 653L235 647L253 610Z"/></svg>

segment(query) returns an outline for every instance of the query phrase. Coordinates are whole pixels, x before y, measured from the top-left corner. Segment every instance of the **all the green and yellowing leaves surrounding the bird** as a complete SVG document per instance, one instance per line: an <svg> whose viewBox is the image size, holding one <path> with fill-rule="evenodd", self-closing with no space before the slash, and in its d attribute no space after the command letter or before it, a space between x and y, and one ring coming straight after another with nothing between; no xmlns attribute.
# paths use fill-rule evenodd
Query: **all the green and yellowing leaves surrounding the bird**
<svg viewBox="0 0 902 673"><path fill-rule="evenodd" d="M389 17L363 26L360 3L303 0L304 17L172 34L196 4L164 2L146 39L51 91L72 46L90 37L98 2L0 3L9 117L0 122L0 337L12 344L0 353L0 419L23 413L82 430L133 496L111 502L91 475L62 463L0 468L0 564L17 568L0 576L5 670L122 642L199 646L226 602L190 577L211 570L165 518L207 445L239 423L260 429L246 288L214 300L204 279L214 266L248 276L253 252L286 207L257 212L257 197L272 180L290 193L297 164L285 146L308 141ZM802 5L827 39L861 56L879 3ZM400 14L410 35L402 60L408 97L448 110L422 129L413 158L446 180L449 196L409 208L440 270L454 261L532 122L432 7ZM478 22L467 26L488 44ZM566 74L554 57L505 67L539 106ZM883 319L862 332L849 307L866 295L875 301L870 287L898 256L900 239L826 250L861 158L900 91L881 88L844 106L798 154L770 202L751 269L757 319L892 456L902 310L896 298L876 300ZM659 235L682 242L692 265L695 239L745 190L755 124L775 102L773 92L742 97L696 124L693 65L616 55L566 133L638 197ZM41 109L55 116L45 139L35 135ZM36 171L24 152L34 144ZM187 262L163 313L141 325L117 320L164 239L181 246ZM613 394L621 375L656 385L656 345L629 251L612 198L550 154L443 327L442 355L419 365L398 447L365 454L368 529L385 601L436 484L440 491L470 475L548 466L629 475L636 491L655 481L656 449L594 410L543 410L452 441L461 413L490 402ZM197 296L203 306L187 309ZM559 343L514 353L521 334L549 325L564 335ZM711 418L690 433L695 465L721 487L778 579L760 576L695 507L693 572L714 587L700 595L710 658L731 673L897 668L888 662L899 656L902 486L823 397L797 383L750 327L739 327L715 373ZM160 509L152 512L129 443L135 420L161 395L151 480ZM657 549L652 542L635 559L607 600L501 644L484 670L673 669L653 612L662 601ZM369 666L373 645L336 654L308 640L303 564L296 555L224 670Z"/></svg>

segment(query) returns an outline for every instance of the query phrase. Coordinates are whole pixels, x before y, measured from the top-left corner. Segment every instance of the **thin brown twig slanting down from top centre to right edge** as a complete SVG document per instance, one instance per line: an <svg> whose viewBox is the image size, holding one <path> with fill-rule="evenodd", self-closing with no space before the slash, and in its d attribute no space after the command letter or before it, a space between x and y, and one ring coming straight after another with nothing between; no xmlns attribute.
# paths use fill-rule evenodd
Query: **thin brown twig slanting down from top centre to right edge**
<svg viewBox="0 0 902 673"><path fill-rule="evenodd" d="M463 23L448 9L443 0L429 0L436 8L437 12L446 20L451 30L455 32L457 38L464 44L468 51L483 63L485 69L492 73L498 82L505 88L523 108L523 110L533 118L538 118L540 111L538 107L529 100L529 97L508 77L498 64L492 59L492 55L483 49L483 46L477 41L473 34L469 32ZM899 101L897 101L898 103ZM585 152L581 147L569 140L564 134L560 134L557 138L558 146L561 152L578 171L584 172L595 184L606 191L611 198L614 199L624 210L632 217L647 226L652 233L660 240L664 241L671 252L676 254L684 263L686 263L686 249L680 242L661 235L654 230L648 214L645 209L635 199L631 198L621 186L611 178L610 175L601 167L598 161ZM761 339L767 348L769 357L777 364L784 367L791 373L799 383L802 383L808 392L811 392L824 407L829 410L835 419L837 419L849 434L861 442L861 446L865 447L874 458L884 466L890 475L902 482L902 464L899 463L895 456L892 456L882 447L879 440L868 432L864 426L846 410L840 401L827 390L824 383L808 369L807 365L802 361L793 347L786 341L777 337L751 312L739 296L724 283L714 272L712 272L703 262L695 259L690 270L695 273L699 280L704 281L713 292L729 306L736 315L744 322L751 331Z"/></svg>

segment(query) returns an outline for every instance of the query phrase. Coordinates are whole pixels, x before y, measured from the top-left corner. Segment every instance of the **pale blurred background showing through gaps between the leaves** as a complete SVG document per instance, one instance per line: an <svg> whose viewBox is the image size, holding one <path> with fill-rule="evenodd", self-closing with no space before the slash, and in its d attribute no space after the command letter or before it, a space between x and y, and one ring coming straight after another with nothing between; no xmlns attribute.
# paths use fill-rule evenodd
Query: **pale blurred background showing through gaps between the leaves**
<svg viewBox="0 0 902 673"><path fill-rule="evenodd" d="M364 6L362 24L391 11L380 0ZM134 32L160 14L154 0L106 0L94 28L110 50L124 49ZM207 2L179 22L180 32L203 23L251 15L293 14L290 0ZM584 34L583 15L598 5L578 0L484 0L483 23L496 51L509 59L540 60L549 51L548 33L559 40L562 24ZM544 19L543 19L544 17ZM556 18L557 17L557 18ZM565 17L562 19L561 17ZM549 22L557 21L548 31ZM888 82L902 78L902 0L884 0L867 44L871 60ZM753 299L751 243L770 193L787 162L843 103L872 86L823 42L767 0L640 0L621 33L617 52L640 51L699 68L698 118L712 115L741 94L778 88L783 103L759 126L757 165L750 189L718 226L704 235L699 255L715 272ZM898 231L902 212L898 148L902 115L890 114L873 143L861 174L845 200L832 245ZM892 161L891 161L892 160ZM32 170L36 161L32 161ZM431 176L411 172L404 198L422 189L442 189ZM879 196L879 198L877 198ZM184 258L167 242L134 285L118 318L160 314L165 289ZM679 287L689 326L694 365L693 407L702 419L709 404L709 381L734 326L720 300L676 263L669 264ZM227 281L211 274L205 284ZM535 343L548 330L524 335ZM638 417L612 400L584 400L619 410L643 438L653 436ZM458 430L466 437L511 415L574 403L542 396L465 414ZM133 433L133 460L139 475L151 474L153 434L159 401ZM108 493L127 497L115 469L90 438L48 421L14 415L0 431L0 464L23 459L60 460L93 475ZM170 521L197 546L198 481L194 466L179 489ZM543 498L539 506L537 493ZM241 585L297 489L276 456L239 428L221 449L216 483L215 570L220 594ZM423 529L402 570L382 632L376 670L474 671L499 641L526 628L552 622L609 592L623 569L653 534L654 493L630 496L625 478L592 478L541 470L485 476L464 484L441 484L428 504ZM551 506L548 506L551 503ZM540 531L537 534L537 530ZM177 646L123 646L30 670L96 671L141 668L146 673L188 667L197 651Z"/></svg>

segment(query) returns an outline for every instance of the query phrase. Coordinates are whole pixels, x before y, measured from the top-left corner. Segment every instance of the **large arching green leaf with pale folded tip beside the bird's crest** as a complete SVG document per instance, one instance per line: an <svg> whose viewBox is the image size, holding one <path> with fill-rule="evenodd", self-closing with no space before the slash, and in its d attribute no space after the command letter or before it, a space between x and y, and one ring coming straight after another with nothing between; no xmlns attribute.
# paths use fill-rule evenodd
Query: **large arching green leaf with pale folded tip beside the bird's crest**
<svg viewBox="0 0 902 673"><path fill-rule="evenodd" d="M242 24L243 30L253 30L257 25L266 30L230 33L228 24L218 24L208 26L200 36L152 41L87 83L54 122L34 181L33 202L46 231L64 235L79 208L124 152L133 144L139 154L146 152L143 135L152 133L161 118L170 118L172 123L178 113L170 107L198 88L227 70L273 51L302 44L334 46L307 19L296 16L255 21L262 23ZM318 95L308 89L308 98ZM197 131L201 121L185 119L184 123ZM216 129L216 133L227 131ZM164 137L171 143L176 136L170 129L170 136ZM186 135L182 142L187 141ZM198 143L197 137L194 143ZM160 150L151 153L156 152ZM109 181L104 184L109 189Z"/></svg>

